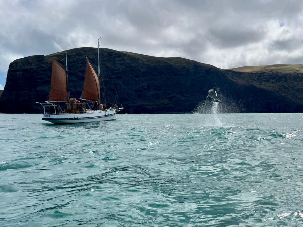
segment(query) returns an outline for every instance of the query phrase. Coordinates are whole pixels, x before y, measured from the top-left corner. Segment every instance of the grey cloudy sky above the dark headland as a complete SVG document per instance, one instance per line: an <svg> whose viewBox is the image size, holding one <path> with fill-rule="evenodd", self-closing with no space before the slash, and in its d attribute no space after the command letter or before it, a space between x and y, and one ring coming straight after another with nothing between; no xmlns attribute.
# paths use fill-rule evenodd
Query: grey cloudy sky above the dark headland
<svg viewBox="0 0 303 227"><path fill-rule="evenodd" d="M0 90L9 63L76 47L233 68L303 64L302 0L0 0Z"/></svg>

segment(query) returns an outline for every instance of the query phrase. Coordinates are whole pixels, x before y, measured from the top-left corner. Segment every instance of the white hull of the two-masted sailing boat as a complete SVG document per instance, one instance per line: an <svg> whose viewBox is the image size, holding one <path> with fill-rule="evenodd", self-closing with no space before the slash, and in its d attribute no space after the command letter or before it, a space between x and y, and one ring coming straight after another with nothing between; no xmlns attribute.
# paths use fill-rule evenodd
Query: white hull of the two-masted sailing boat
<svg viewBox="0 0 303 227"><path fill-rule="evenodd" d="M91 110L86 113L72 114L43 114L42 120L54 123L54 124L74 124L85 123L94 121L116 120L116 110Z"/></svg>

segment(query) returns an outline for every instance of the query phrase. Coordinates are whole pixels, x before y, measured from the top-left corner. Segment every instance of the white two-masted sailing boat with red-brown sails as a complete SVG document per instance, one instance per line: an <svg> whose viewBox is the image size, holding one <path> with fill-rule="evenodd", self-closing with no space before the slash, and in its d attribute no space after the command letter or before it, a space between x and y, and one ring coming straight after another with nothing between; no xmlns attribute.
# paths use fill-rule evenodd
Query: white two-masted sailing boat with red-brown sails
<svg viewBox="0 0 303 227"><path fill-rule="evenodd" d="M100 104L100 57L99 57L99 39L98 39L98 75L90 61L86 58L86 72L84 86L81 95L81 102L75 98L70 98L68 90L68 70L67 55L65 53L66 68L64 68L57 59L53 58L51 89L48 100L45 103L38 103L43 106L44 114L42 120L54 124L73 124L93 121L115 120L116 113L123 107L112 105L109 108L103 108ZM59 103L65 102L65 108L62 110ZM92 106L89 103L93 103Z"/></svg>

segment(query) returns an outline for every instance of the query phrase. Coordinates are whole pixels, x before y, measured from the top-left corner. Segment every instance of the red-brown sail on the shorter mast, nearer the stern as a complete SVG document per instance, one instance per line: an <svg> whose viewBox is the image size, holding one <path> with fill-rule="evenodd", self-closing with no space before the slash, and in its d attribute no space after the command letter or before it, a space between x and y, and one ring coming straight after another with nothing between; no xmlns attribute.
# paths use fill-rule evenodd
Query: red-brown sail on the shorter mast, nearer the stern
<svg viewBox="0 0 303 227"><path fill-rule="evenodd" d="M51 90L49 91L48 101L67 101L67 78L66 71L62 65L54 58L52 65Z"/></svg>

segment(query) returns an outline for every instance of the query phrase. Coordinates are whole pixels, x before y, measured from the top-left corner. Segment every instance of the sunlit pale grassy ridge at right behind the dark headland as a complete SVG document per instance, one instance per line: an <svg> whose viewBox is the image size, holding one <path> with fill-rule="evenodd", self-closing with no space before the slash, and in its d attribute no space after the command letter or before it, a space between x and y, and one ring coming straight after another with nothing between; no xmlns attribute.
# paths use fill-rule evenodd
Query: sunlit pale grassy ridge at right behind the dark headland
<svg viewBox="0 0 303 227"><path fill-rule="evenodd" d="M255 72L255 71L281 71L281 72L298 72L303 73L303 65L295 64L295 65L287 65L287 64L274 64L274 65L261 65L261 66L243 66L238 68L232 68L230 70L236 72Z"/></svg>

